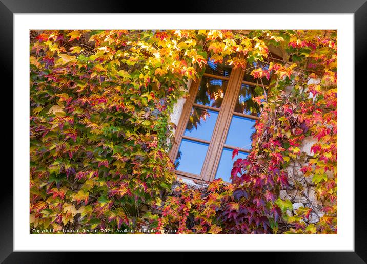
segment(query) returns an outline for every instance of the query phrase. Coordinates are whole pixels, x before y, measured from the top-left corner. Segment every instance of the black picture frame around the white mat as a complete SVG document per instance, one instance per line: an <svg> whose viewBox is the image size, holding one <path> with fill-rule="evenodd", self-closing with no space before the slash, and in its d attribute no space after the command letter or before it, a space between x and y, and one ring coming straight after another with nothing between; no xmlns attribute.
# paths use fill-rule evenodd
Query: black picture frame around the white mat
<svg viewBox="0 0 367 264"><path fill-rule="evenodd" d="M96 0L0 0L0 51L1 64L0 70L3 80L9 80L6 86L8 92L12 87L13 76L13 14L14 13L127 13L127 12L169 12L174 13L178 10L176 7L172 10L165 10L164 7L173 7L174 3L164 3L162 1L150 2L144 4L144 10L134 1L108 1L103 5L101 1ZM179 11L182 13L353 13L354 14L354 36L355 36L355 86L362 82L365 76L365 58L367 47L367 3L366 0L252 0L252 1L232 1L212 0L206 2L186 1L179 5ZM47 24L45 24L47 25ZM5 90L5 86L4 90ZM365 89L365 88L364 88ZM3 91L4 91L3 90ZM351 91L354 87L351 87ZM363 90L363 89L362 89ZM16 100L11 93L10 100ZM349 109L350 113L354 109ZM13 124L12 116L8 115L9 123ZM5 121L4 121L5 122ZM10 126L10 125L9 125ZM354 128L355 129L355 128ZM354 131L357 132L355 129ZM355 137L361 136L363 131L355 134ZM12 135L12 134L11 134ZM9 138L9 137L7 137ZM8 139L9 140L9 139ZM9 152L9 150L7 150ZM352 153L353 154L353 153ZM358 161L363 158L355 155ZM13 157L16 159L16 157ZM363 164L362 162L355 164ZM4 165L5 166L5 165ZM4 172L3 172L4 173ZM247 252L249 255L261 254L261 260L281 262L281 263L366 263L367 262L367 228L365 221L365 173L357 175L355 181L355 251L354 252ZM353 180L354 175L350 175ZM74 262L76 253L65 252L13 252L13 179L10 174L3 174L1 190L1 217L0 217L0 261L4 263L58 263ZM84 262L95 258L93 252L78 253L83 256ZM109 258L111 257L111 253ZM119 253L112 253L114 255ZM182 253L177 253L181 255ZM177 259L177 255L175 257Z"/></svg>

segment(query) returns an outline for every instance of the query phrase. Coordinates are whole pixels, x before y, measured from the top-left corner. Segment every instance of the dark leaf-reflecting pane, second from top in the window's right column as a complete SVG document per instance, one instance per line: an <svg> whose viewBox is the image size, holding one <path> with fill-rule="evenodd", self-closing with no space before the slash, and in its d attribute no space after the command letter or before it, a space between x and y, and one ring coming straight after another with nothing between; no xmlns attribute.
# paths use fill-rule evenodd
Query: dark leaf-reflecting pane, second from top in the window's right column
<svg viewBox="0 0 367 264"><path fill-rule="evenodd" d="M254 87L242 84L234 111L246 115L259 116L260 107L252 100L254 93Z"/></svg>

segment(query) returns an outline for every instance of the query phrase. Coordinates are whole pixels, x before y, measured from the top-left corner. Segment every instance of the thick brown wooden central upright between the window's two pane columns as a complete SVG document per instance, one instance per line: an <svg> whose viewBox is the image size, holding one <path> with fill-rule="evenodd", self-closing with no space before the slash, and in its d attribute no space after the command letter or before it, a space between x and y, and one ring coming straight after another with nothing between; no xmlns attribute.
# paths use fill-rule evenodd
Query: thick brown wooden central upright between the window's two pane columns
<svg viewBox="0 0 367 264"><path fill-rule="evenodd" d="M214 179L214 173L218 167L221 150L228 134L231 117L236 105L237 95L240 90L244 71L241 68L232 70L223 103L214 127L211 144L201 169L201 177L205 181Z"/></svg>

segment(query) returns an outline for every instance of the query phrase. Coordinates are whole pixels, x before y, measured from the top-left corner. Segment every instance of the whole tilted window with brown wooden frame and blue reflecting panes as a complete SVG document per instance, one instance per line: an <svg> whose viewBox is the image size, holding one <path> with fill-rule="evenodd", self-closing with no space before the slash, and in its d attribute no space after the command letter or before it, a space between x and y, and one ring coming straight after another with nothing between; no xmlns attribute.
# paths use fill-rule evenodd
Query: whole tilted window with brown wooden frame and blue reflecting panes
<svg viewBox="0 0 367 264"><path fill-rule="evenodd" d="M177 175L230 181L233 162L250 152L260 114L252 100L257 86L250 76L254 67L258 67L255 62L246 70L231 69L209 60L203 77L192 82L170 152ZM239 152L232 159L234 149Z"/></svg>

